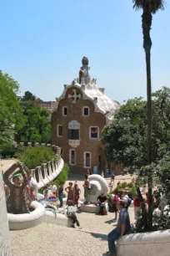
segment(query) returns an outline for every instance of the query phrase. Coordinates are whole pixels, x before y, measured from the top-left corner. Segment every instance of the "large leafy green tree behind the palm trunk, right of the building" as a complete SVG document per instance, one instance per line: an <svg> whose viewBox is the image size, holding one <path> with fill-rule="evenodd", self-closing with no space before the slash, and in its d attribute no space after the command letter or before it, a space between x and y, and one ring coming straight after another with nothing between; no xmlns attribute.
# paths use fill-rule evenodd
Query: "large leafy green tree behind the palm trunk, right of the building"
<svg viewBox="0 0 170 256"><path fill-rule="evenodd" d="M153 93L153 163L148 165L147 101L143 98L128 100L114 116L112 124L106 125L102 132L102 141L105 144L108 161L121 163L131 173L138 172L142 180L149 177L153 179L157 176L156 183L158 180L160 181L161 173L157 172L157 175L155 175L155 172L156 170L165 170L162 164L164 156L169 156L170 161L170 154L168 154L170 152L169 117L170 89L163 87L162 90ZM162 186L163 177L166 176L162 176ZM165 180L164 183L166 184ZM138 193L140 194L139 189ZM149 215L144 207L143 218L145 218L144 230L149 231L151 229Z"/></svg>

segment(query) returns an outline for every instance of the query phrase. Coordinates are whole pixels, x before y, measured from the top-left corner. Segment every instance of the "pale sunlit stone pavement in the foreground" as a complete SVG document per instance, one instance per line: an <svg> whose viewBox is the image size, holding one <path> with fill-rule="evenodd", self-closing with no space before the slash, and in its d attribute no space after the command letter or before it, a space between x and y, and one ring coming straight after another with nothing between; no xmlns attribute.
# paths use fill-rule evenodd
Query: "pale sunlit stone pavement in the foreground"
<svg viewBox="0 0 170 256"><path fill-rule="evenodd" d="M129 208L133 220L133 207ZM35 228L10 231L13 256L100 256L107 251L107 233L113 213L97 216L77 213L82 230L42 223Z"/></svg>

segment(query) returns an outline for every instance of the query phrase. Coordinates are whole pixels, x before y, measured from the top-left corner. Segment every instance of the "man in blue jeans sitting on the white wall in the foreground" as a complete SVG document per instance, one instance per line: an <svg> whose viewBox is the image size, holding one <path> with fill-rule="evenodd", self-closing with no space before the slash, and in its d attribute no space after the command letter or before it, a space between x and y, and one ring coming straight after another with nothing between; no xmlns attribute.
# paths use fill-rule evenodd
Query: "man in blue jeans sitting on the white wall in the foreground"
<svg viewBox="0 0 170 256"><path fill-rule="evenodd" d="M128 215L128 210L125 208L126 202L120 200L117 202L117 210L120 211L117 222L117 228L114 228L111 233L108 233L108 248L107 253L102 254L103 256L116 256L115 241L125 234L130 233L131 225Z"/></svg>

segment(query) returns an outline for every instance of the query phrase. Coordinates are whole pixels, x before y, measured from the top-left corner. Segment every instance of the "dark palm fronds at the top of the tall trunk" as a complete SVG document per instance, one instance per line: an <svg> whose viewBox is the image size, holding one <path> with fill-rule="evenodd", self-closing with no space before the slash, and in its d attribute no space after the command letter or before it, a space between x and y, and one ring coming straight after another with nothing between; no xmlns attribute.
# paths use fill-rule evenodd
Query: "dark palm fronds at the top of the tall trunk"
<svg viewBox="0 0 170 256"><path fill-rule="evenodd" d="M133 0L133 8L147 8L151 13L157 13L158 10L164 10L165 1L164 0Z"/></svg>

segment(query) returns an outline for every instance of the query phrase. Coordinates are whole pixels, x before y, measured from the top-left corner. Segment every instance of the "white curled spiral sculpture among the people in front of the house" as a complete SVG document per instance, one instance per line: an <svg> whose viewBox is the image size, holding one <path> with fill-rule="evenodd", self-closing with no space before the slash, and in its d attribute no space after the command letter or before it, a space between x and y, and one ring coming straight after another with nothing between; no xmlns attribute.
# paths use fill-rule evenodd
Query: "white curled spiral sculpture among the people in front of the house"
<svg viewBox="0 0 170 256"><path fill-rule="evenodd" d="M101 193L107 195L108 185L105 178L98 174L92 174L89 177L91 190L88 191L88 201L89 202L97 202L97 197L100 196Z"/></svg>

